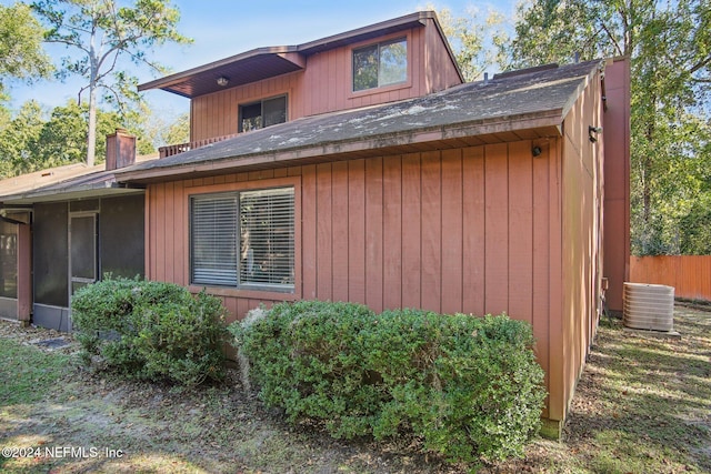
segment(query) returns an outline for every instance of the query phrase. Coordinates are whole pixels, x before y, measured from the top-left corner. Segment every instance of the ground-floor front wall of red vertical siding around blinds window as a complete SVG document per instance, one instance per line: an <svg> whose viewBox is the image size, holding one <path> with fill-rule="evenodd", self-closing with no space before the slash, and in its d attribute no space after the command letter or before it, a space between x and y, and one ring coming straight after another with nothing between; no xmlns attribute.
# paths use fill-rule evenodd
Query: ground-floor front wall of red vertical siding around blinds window
<svg viewBox="0 0 711 474"><path fill-rule="evenodd" d="M148 278L189 285L191 194L293 184L296 293L209 289L232 319L296 299L353 301L374 311L505 311L532 323L548 372L550 351L561 352L549 350L560 345L552 333L560 331L560 305L551 302L561 290L550 283L561 254L560 238L550 239L561 235L557 143L551 139L535 159L532 143L520 141L151 184ZM551 406L561 403L551 395Z"/></svg>

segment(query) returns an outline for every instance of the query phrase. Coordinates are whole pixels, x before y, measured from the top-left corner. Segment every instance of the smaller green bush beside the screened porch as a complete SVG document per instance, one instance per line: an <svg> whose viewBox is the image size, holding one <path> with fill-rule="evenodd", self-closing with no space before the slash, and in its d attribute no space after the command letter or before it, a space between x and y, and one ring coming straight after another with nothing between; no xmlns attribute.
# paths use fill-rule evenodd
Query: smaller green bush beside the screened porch
<svg viewBox="0 0 711 474"><path fill-rule="evenodd" d="M222 302L203 292L138 279L104 279L72 296L86 360L130 377L197 385L224 376Z"/></svg>

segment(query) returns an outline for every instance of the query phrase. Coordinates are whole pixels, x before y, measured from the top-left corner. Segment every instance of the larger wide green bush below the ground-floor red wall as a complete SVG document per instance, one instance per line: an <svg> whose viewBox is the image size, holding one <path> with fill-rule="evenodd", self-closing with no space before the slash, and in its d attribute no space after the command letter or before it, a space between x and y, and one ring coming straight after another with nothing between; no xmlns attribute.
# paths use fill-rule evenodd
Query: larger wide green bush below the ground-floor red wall
<svg viewBox="0 0 711 474"><path fill-rule="evenodd" d="M451 461L521 455L545 391L528 323L352 303L274 305L234 323L260 396L336 437L414 434Z"/></svg>

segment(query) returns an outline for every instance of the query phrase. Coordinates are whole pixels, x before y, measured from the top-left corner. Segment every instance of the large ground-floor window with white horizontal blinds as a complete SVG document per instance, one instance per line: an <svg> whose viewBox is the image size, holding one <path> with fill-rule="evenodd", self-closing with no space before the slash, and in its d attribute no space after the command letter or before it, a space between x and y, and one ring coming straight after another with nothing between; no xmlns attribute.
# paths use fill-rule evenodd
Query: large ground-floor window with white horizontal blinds
<svg viewBox="0 0 711 474"><path fill-rule="evenodd" d="M293 188L193 196L193 284L291 291Z"/></svg>

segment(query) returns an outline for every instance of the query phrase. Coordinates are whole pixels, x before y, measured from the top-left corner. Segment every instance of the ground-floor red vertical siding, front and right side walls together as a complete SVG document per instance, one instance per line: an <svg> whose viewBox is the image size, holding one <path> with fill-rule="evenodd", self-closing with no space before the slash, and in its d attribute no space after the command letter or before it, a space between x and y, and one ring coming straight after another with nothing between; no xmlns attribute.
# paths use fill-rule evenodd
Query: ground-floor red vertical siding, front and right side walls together
<svg viewBox="0 0 711 474"><path fill-rule="evenodd" d="M299 299L507 312L532 324L550 394L543 415L564 420L602 285L603 150L588 139L601 124L600 94L595 75L562 138L150 184L147 275L189 285L191 194L294 185L296 292L209 289L232 319Z"/></svg>

